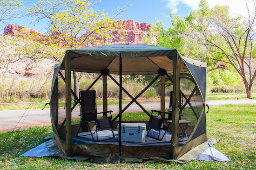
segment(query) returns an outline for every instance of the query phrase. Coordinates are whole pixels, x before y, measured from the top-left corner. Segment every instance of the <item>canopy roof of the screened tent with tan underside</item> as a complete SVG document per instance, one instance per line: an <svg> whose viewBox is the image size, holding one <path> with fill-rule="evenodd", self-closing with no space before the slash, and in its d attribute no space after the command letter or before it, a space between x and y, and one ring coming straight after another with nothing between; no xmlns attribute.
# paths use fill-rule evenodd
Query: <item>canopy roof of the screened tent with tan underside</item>
<svg viewBox="0 0 256 170"><path fill-rule="evenodd" d="M83 49L67 50L65 57L71 57L71 70L101 73L102 69L110 74L119 74L119 58L122 57L122 74L157 74L158 69L173 72L172 57L182 57L176 49L154 45L104 45ZM181 71L188 71L183 60L194 65L206 67L205 63L182 57ZM61 69L64 69L64 61Z"/></svg>

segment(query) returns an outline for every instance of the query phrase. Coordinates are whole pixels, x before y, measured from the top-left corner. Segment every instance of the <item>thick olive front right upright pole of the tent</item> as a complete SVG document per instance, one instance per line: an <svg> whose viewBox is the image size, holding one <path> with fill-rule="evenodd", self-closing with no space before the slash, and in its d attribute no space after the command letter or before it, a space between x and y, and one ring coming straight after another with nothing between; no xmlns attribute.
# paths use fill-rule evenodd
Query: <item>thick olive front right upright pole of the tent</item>
<svg viewBox="0 0 256 170"><path fill-rule="evenodd" d="M178 156L178 142L179 142L179 105L180 105L180 61L179 55L172 57L173 61L173 100L172 100L172 140L173 147L172 159L176 159Z"/></svg>

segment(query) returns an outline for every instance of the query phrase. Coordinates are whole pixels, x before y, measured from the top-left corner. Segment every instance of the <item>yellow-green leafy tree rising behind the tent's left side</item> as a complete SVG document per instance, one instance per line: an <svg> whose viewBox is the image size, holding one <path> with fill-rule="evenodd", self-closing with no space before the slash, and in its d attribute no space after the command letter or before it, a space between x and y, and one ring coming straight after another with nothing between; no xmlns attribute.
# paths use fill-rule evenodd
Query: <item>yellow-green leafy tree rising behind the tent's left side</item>
<svg viewBox="0 0 256 170"><path fill-rule="evenodd" d="M12 62L23 58L32 58L34 62L52 58L61 62L67 49L110 44L115 36L126 35L123 25L119 25L116 19L131 5L108 16L104 11L93 9L97 3L92 0L38 0L32 4L27 14L35 18L35 23L47 20L47 35L21 31L17 36L27 40L15 48L17 52ZM13 44L17 44L15 40ZM78 95L76 72L73 75L74 91Z"/></svg>

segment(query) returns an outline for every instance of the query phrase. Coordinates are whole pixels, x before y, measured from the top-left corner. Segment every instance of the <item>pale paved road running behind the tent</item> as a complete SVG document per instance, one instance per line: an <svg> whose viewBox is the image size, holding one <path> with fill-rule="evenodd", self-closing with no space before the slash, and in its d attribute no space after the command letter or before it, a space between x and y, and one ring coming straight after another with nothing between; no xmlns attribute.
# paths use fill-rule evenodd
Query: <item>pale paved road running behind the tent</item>
<svg viewBox="0 0 256 170"><path fill-rule="evenodd" d="M196 103L194 103L196 104ZM214 100L207 101L206 104L209 106L219 106L219 105L228 105L228 104L256 104L256 100ZM160 109L160 103L144 103L141 104L146 110L157 110ZM193 103L192 103L193 105ZM126 105L122 105L124 108ZM169 103L165 103L166 108L168 108ZM102 112L102 106L97 107L98 112ZM108 110L112 110L113 113L119 113L118 105L109 105ZM125 112L136 112L142 111L141 108L132 104ZM79 107L77 107L72 112L72 118L78 117L80 111ZM59 116L65 117L64 108L59 109ZM49 109L31 109L31 110L10 110L10 111L0 111L0 131L4 131L6 129L14 128L15 126L20 127L27 125L40 125L40 124L50 124L50 111Z"/></svg>

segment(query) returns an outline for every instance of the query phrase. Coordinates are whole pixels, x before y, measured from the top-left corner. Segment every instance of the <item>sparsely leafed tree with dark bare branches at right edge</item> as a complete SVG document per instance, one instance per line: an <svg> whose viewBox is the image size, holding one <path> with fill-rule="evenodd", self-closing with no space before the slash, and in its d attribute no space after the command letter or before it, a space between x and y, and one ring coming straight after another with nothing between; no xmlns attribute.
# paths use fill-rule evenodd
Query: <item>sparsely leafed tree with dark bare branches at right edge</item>
<svg viewBox="0 0 256 170"><path fill-rule="evenodd" d="M248 1L245 3L248 17L232 17L228 6L210 9L205 0L200 1L200 9L188 19L190 27L183 35L209 51L207 58L233 67L243 79L247 98L251 98L251 88L256 77L253 67L256 1L250 6L253 9L249 8Z"/></svg>

